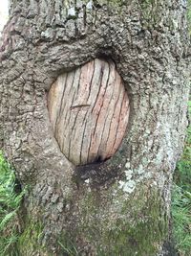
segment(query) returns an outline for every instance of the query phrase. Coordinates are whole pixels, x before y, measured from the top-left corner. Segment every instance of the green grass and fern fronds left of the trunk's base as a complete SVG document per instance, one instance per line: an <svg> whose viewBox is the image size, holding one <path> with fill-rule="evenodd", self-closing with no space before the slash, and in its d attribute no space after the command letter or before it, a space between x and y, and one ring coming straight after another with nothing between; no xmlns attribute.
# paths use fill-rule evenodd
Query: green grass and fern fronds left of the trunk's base
<svg viewBox="0 0 191 256"><path fill-rule="evenodd" d="M19 208L23 193L16 193L16 179L11 166L0 152L0 255L17 256L20 233Z"/></svg>

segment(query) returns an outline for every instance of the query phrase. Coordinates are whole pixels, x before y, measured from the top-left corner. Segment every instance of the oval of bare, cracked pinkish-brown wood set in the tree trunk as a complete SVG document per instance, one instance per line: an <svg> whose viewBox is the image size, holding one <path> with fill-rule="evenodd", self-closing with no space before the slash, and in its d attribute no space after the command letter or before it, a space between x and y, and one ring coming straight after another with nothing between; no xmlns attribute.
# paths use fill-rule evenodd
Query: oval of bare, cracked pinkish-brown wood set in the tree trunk
<svg viewBox="0 0 191 256"><path fill-rule="evenodd" d="M129 99L115 63L98 58L57 78L48 109L60 150L74 165L113 156L129 119Z"/></svg>

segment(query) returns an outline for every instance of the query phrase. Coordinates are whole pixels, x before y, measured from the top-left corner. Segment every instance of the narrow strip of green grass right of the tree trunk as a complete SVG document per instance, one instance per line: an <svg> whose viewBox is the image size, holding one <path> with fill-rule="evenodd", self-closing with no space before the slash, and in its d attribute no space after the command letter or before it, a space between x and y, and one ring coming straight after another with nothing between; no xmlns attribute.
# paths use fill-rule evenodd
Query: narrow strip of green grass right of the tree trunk
<svg viewBox="0 0 191 256"><path fill-rule="evenodd" d="M189 102L191 115L191 101ZM173 235L180 256L191 255L191 125L174 175L172 194Z"/></svg>

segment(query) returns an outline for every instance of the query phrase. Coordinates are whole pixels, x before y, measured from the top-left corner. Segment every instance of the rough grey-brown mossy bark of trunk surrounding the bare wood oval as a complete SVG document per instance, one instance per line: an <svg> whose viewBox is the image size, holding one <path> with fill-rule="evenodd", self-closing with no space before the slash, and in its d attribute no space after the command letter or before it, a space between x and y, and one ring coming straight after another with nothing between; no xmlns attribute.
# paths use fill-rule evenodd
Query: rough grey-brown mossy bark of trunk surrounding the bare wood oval
<svg viewBox="0 0 191 256"><path fill-rule="evenodd" d="M22 186L20 255L165 255L184 141L188 38L182 0L14 0L0 51L0 147ZM113 59L130 99L115 155L75 167L47 94L60 74Z"/></svg>

